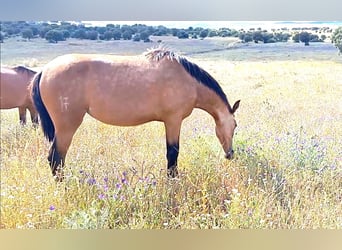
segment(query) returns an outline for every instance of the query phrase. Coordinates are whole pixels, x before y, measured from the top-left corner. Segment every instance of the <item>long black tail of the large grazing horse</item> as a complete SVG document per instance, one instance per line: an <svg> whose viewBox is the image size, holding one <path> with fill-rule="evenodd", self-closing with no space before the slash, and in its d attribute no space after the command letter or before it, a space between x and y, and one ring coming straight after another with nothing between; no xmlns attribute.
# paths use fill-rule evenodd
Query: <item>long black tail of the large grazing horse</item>
<svg viewBox="0 0 342 250"><path fill-rule="evenodd" d="M33 86L32 86L32 100L34 103L34 106L36 107L39 117L40 117L40 123L42 125L42 129L44 132L45 137L52 141L55 137L55 126L52 123L51 117L46 110L46 107L42 101L42 97L40 96L40 89L39 89L39 83L40 78L42 77L42 72L36 74L33 78Z"/></svg>

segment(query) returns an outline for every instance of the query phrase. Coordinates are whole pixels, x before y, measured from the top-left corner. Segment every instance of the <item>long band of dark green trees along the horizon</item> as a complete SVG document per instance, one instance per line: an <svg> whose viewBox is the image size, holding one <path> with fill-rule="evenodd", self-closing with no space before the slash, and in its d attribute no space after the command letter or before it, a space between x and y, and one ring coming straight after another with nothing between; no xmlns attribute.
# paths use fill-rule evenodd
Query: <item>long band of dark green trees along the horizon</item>
<svg viewBox="0 0 342 250"><path fill-rule="evenodd" d="M326 39L326 33L332 30L325 28L293 28L289 30L282 28L279 30L249 29L245 31L230 28L206 29L201 27L189 27L187 29L167 28L165 26L147 26L144 24L117 25L107 24L104 27L85 26L82 23L71 22L26 22L9 21L1 22L1 37L3 42L8 37L21 36L23 39L43 38L51 43L65 41L68 38L89 39L89 40L132 40L150 42L151 36L172 35L179 39L204 39L206 37L237 37L242 42L287 42L292 38L295 42L303 42L309 45L309 42L323 42ZM311 32L315 33L312 34ZM324 33L321 34L320 33Z"/></svg>

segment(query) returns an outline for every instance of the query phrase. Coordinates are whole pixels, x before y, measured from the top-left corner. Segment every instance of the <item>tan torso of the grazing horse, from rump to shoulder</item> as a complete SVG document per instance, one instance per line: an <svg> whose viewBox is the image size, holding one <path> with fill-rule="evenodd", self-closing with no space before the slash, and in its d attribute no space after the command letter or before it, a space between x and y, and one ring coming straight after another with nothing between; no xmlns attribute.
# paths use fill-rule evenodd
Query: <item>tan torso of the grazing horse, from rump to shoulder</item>
<svg viewBox="0 0 342 250"><path fill-rule="evenodd" d="M55 112L82 109L108 124L137 125L173 113L189 115L196 84L175 61L65 55L44 68L41 94Z"/></svg>

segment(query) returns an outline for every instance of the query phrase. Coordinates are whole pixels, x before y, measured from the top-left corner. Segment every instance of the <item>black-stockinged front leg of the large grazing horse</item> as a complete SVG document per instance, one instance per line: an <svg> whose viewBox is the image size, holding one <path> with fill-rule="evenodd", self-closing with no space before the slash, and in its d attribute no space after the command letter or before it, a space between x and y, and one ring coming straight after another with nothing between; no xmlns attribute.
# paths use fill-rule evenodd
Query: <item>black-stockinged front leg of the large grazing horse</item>
<svg viewBox="0 0 342 250"><path fill-rule="evenodd" d="M178 176L177 159L179 153L179 134L181 123L181 120L172 120L164 123L166 131L167 176L169 178L175 178Z"/></svg>

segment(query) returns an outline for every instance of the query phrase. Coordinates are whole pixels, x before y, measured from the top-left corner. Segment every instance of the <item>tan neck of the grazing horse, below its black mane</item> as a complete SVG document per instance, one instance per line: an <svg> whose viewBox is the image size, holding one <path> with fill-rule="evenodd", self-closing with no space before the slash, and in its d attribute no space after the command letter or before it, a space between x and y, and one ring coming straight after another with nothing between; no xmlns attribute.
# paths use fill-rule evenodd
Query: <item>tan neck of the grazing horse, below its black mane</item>
<svg viewBox="0 0 342 250"><path fill-rule="evenodd" d="M216 122L220 121L229 113L227 105L211 89L198 85L196 108L207 111Z"/></svg>

